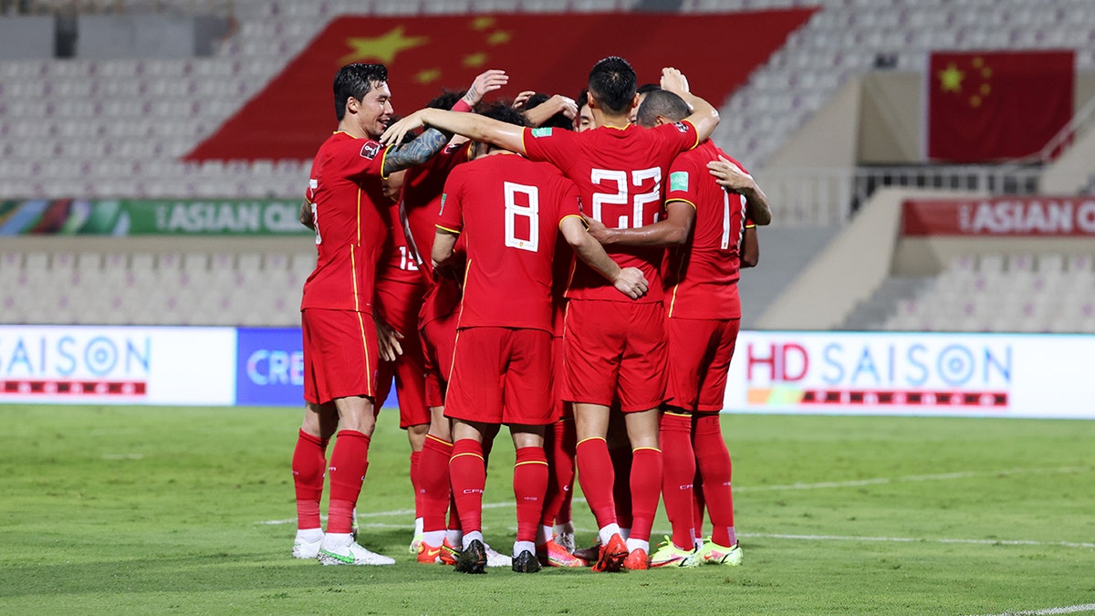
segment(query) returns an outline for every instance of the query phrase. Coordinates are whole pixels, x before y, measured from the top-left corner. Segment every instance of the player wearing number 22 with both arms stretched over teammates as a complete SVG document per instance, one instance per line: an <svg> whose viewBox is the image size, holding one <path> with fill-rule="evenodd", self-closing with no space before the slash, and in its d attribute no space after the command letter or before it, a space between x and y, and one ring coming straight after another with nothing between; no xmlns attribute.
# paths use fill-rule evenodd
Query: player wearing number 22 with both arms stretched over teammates
<svg viewBox="0 0 1095 616"><path fill-rule="evenodd" d="M397 141L407 130L428 125L549 161L578 185L592 218L612 227L643 227L661 215L661 180L672 159L706 139L718 124L718 112L688 92L680 71L664 69L661 85L693 106L688 118L649 130L630 124L635 71L623 58L609 57L589 73L588 102L596 129L580 134L552 128L515 130L489 118L422 110L393 124L383 140ZM621 266L642 270L650 281L649 295L639 301L621 301L603 278L577 264L567 290L570 303L564 334L565 391L575 403L578 480L599 527L601 548L593 566L598 571L646 568L661 491L658 409L666 387L659 274L664 250L623 249L610 255ZM613 400L620 401L625 414L634 456L633 522L626 541L615 520L614 477L606 443Z"/></svg>

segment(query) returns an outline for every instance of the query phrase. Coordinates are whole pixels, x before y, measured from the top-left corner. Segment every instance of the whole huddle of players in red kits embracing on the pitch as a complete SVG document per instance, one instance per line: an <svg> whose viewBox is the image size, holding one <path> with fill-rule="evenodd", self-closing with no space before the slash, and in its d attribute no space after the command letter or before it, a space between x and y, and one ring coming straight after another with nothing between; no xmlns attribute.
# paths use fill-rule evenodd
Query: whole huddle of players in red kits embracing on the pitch
<svg viewBox="0 0 1095 616"><path fill-rule="evenodd" d="M578 116L597 127L589 132L532 128L503 104L461 113L505 84L500 71L476 78L452 111L425 109L385 127L391 106L381 72L378 65L341 69L339 132L316 156L310 212L302 210L316 229L319 261L302 301L309 406L293 455L293 556L393 562L356 543L361 483L351 479L364 479L367 467L372 399L381 393L377 361L402 346L395 378L414 450L422 526L412 548L419 562L470 573L488 564L485 458L506 424L516 447L518 532L512 559L497 555L496 563L519 572L587 562L597 571L739 563L717 413L740 319L744 217L768 224L770 213L751 176L707 140L717 112L689 92L679 71L665 69L661 88L638 107L646 128L631 124L635 73L610 57L589 76L587 113ZM556 111L578 112L554 98L529 116L541 124ZM419 127L414 140L392 146ZM453 134L472 141L446 146ZM384 201L383 186L392 194L392 174L403 169L401 198ZM610 422L620 414L630 457L610 454ZM322 469L336 426L323 533ZM630 461L630 481L614 477L621 460ZM599 527L585 558L572 554L573 535L556 541L565 525L553 527L568 522L575 461ZM700 477L714 526L706 541L693 489ZM652 555L662 493L673 536ZM459 516L450 515L449 528L447 510Z"/></svg>

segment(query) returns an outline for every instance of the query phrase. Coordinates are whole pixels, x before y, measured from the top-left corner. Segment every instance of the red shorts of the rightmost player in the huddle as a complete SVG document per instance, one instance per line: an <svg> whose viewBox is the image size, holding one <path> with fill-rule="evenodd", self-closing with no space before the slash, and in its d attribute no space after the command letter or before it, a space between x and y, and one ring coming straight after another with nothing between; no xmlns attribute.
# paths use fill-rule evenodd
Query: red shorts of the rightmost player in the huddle
<svg viewBox="0 0 1095 616"><path fill-rule="evenodd" d="M669 335L667 404L685 411L717 412L726 396L740 319L666 319Z"/></svg>

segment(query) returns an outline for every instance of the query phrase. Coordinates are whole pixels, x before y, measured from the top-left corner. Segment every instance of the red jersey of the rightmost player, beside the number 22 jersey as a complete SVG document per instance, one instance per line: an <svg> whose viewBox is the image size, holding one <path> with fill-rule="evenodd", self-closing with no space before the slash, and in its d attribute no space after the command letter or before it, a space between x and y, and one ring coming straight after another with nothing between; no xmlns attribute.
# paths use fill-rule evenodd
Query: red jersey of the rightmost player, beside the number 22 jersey
<svg viewBox="0 0 1095 616"><path fill-rule="evenodd" d="M741 318L738 247L745 232L746 197L725 191L707 171L707 162L718 160L719 155L741 167L707 139L677 157L669 169L666 203L680 201L695 208L692 241L669 253L669 318Z"/></svg>

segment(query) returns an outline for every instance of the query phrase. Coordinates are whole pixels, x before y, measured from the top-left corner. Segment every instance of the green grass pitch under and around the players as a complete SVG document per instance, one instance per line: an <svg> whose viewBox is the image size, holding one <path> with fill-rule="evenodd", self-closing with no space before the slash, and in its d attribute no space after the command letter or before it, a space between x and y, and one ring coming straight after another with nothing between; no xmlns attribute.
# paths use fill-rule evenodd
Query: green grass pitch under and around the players
<svg viewBox="0 0 1095 616"><path fill-rule="evenodd" d="M408 448L387 411L359 511L362 543L397 563L291 559L293 526L276 522L295 514L299 415L0 407L0 614L1000 614L1095 603L1095 422L726 415L744 567L468 577L406 551ZM511 464L499 441L485 502L511 500ZM588 509L575 511L589 544ZM514 507L487 509L484 522L507 551ZM668 532L664 515L655 532Z"/></svg>

